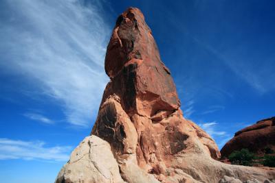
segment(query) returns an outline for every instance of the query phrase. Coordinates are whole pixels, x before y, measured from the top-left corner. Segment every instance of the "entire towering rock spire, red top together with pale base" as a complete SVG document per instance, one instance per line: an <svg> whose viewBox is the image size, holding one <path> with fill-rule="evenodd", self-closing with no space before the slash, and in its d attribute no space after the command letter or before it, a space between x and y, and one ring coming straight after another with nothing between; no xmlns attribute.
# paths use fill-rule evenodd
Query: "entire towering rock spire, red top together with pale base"
<svg viewBox="0 0 275 183"><path fill-rule="evenodd" d="M107 47L105 71L111 81L91 136L73 151L56 183L275 180L274 170L215 160L220 158L216 143L184 119L170 71L160 60L151 29L137 8L118 17ZM110 146L101 145L96 151L92 144L98 141Z"/></svg>

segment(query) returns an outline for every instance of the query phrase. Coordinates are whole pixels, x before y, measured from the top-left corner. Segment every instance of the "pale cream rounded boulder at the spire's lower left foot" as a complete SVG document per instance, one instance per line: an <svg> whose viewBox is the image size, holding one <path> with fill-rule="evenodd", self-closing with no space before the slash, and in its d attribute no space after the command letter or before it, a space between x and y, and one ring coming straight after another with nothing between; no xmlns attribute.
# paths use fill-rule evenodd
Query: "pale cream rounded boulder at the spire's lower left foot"
<svg viewBox="0 0 275 183"><path fill-rule="evenodd" d="M109 143L87 136L58 173L56 183L124 182Z"/></svg>

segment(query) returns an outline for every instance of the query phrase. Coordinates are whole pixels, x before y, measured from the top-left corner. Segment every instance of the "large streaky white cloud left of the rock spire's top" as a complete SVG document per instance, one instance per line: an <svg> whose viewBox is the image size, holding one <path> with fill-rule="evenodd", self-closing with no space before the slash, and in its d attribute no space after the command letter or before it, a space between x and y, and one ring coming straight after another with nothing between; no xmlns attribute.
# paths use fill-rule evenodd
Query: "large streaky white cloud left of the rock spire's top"
<svg viewBox="0 0 275 183"><path fill-rule="evenodd" d="M58 101L69 123L87 126L109 80L104 55L110 29L98 6L81 2L6 0L12 13L0 27L0 69L23 75Z"/></svg>

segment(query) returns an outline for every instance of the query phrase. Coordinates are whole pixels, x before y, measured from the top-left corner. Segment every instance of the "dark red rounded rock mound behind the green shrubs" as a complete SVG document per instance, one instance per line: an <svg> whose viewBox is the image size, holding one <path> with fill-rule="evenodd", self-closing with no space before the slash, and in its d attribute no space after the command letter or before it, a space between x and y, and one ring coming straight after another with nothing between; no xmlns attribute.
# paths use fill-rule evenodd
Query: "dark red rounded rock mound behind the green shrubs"
<svg viewBox="0 0 275 183"><path fill-rule="evenodd" d="M232 151L243 148L256 154L263 154L265 147L275 151L275 117L263 119L236 132L234 138L221 149L221 154L223 157L228 157Z"/></svg>

